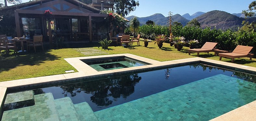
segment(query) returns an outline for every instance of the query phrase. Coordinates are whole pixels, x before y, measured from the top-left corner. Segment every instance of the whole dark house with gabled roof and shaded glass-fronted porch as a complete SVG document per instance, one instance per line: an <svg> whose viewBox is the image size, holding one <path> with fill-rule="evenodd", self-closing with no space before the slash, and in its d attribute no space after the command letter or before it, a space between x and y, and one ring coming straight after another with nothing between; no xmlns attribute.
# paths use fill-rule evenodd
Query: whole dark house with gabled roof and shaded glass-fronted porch
<svg viewBox="0 0 256 121"><path fill-rule="evenodd" d="M78 0L35 0L0 9L14 12L17 37L42 34L49 38L54 34L68 41L82 38L91 42L107 37L109 24L105 18L108 14L100 14L100 9L113 9L114 5L113 0L92 1L87 5ZM46 10L52 13L51 16L45 16Z"/></svg>

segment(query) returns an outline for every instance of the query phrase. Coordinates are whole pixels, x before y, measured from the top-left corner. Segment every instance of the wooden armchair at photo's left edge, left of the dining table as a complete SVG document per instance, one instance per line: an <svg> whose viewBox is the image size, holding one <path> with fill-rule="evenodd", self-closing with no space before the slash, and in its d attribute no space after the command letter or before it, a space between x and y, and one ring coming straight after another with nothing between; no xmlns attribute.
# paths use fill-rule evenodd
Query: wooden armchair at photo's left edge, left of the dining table
<svg viewBox="0 0 256 121"><path fill-rule="evenodd" d="M5 49L6 54L10 52L9 49L14 49L14 53L17 53L17 48L14 43L7 43L6 38L0 38L0 52L2 49Z"/></svg>

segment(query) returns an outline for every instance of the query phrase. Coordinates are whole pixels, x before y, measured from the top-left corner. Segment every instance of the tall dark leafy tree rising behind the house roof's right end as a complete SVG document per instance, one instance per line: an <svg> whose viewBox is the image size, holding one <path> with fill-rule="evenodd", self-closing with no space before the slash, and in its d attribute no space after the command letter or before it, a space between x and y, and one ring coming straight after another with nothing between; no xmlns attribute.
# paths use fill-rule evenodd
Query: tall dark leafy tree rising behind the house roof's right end
<svg viewBox="0 0 256 121"><path fill-rule="evenodd" d="M139 6L139 1L135 0L114 0L114 10L115 13L126 16L131 11L134 11L136 9L136 6Z"/></svg>

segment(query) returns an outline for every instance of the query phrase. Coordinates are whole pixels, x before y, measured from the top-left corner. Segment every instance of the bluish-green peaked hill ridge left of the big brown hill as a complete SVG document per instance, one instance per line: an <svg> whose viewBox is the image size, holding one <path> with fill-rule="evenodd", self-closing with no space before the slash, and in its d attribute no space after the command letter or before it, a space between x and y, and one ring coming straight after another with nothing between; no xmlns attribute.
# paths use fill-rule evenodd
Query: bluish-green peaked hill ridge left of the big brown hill
<svg viewBox="0 0 256 121"><path fill-rule="evenodd" d="M134 16L128 16L125 18L128 20L131 20L133 17ZM180 22L183 26L185 26L186 23L189 21L179 14L175 14L172 17L173 17L173 22L175 22L175 21ZM146 22L148 20L151 20L151 21L154 21L156 25L167 26L169 17L165 17L162 14L154 14L154 15L147 16L147 17L137 17L137 19L139 20L140 25L144 25L144 24L146 24Z"/></svg>

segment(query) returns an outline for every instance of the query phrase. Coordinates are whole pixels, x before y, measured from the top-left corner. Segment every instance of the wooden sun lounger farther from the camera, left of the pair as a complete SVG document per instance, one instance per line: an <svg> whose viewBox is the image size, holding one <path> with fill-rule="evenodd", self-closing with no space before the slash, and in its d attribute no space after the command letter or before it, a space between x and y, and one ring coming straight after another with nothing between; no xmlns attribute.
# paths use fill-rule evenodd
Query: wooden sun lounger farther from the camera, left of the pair
<svg viewBox="0 0 256 121"><path fill-rule="evenodd" d="M213 52L213 48L217 45L216 42L206 42L202 48L200 49L188 49L188 55L190 55L191 52L197 52L197 56L199 56L200 52Z"/></svg>

